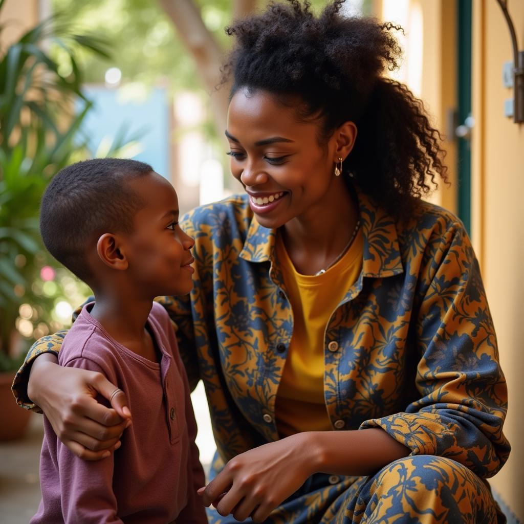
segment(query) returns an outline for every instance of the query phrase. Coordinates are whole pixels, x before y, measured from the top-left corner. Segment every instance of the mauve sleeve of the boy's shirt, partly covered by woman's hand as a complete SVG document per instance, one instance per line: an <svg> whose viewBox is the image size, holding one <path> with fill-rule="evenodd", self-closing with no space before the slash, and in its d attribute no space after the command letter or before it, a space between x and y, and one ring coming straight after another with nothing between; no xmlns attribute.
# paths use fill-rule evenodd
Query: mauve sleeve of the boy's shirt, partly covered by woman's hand
<svg viewBox="0 0 524 524"><path fill-rule="evenodd" d="M104 373L99 365L88 358L72 359L66 367ZM113 493L113 454L100 461L84 461L57 440L57 462L62 515L66 524L122 523L116 515L117 502Z"/></svg>

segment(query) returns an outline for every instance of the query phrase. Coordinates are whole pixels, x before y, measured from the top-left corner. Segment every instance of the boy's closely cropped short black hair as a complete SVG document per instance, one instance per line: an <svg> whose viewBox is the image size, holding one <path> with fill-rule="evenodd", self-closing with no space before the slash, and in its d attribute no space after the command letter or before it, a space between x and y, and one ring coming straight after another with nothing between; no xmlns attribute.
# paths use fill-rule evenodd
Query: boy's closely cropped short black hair
<svg viewBox="0 0 524 524"><path fill-rule="evenodd" d="M119 158L85 160L59 171L40 206L40 234L49 253L80 279L89 279L90 239L133 232L143 202L126 182L151 171L144 162Z"/></svg>

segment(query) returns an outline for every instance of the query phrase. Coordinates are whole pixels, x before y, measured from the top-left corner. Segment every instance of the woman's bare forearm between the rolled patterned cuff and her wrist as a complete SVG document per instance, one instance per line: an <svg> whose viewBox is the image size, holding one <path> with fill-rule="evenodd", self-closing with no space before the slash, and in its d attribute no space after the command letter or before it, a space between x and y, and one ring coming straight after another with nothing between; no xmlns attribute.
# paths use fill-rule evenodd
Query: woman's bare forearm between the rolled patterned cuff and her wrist
<svg viewBox="0 0 524 524"><path fill-rule="evenodd" d="M363 476L376 473L411 452L380 428L355 431L312 431L313 472Z"/></svg>

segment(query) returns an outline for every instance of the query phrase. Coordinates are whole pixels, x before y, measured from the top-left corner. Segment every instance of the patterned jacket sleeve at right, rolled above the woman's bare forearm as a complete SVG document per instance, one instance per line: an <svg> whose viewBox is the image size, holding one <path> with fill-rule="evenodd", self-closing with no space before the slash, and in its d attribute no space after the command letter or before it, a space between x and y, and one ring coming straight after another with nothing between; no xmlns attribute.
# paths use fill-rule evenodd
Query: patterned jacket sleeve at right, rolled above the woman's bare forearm
<svg viewBox="0 0 524 524"><path fill-rule="evenodd" d="M367 420L411 454L446 456L495 475L510 446L502 428L506 381L478 262L462 224L427 254L416 312L418 399L405 412ZM417 308L416 308L417 309Z"/></svg>

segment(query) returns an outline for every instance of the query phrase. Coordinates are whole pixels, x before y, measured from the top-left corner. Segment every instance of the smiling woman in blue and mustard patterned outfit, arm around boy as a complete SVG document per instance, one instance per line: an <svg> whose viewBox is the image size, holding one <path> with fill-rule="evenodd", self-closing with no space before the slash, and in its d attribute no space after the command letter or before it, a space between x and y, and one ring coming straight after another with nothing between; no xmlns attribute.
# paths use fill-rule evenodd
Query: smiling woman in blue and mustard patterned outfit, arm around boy
<svg viewBox="0 0 524 524"><path fill-rule="evenodd" d="M161 299L210 403L211 522L503 522L482 480L509 444L478 264L461 222L420 200L446 180L438 132L383 76L390 25L288 3L228 29L247 194L182 222L195 288ZM35 345L15 390L28 401L47 352L29 398L98 458L125 422L90 391L115 388L60 369L59 345Z"/></svg>

